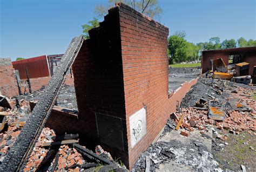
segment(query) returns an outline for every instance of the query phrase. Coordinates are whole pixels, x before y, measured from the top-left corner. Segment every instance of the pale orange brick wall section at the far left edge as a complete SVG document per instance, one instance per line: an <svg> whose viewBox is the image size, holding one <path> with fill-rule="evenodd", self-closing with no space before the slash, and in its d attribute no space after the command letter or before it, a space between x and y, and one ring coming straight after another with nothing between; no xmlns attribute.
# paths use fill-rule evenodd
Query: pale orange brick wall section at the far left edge
<svg viewBox="0 0 256 172"><path fill-rule="evenodd" d="M0 58L0 94L8 97L19 94L15 71L10 58Z"/></svg>

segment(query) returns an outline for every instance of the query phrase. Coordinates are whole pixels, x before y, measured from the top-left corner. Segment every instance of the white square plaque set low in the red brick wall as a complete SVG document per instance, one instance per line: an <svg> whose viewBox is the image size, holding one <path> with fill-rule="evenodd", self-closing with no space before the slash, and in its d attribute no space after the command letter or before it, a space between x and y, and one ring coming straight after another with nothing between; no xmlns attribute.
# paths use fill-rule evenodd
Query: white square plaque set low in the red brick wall
<svg viewBox="0 0 256 172"><path fill-rule="evenodd" d="M129 121L131 146L134 147L147 133L146 108L144 107L131 115Z"/></svg>

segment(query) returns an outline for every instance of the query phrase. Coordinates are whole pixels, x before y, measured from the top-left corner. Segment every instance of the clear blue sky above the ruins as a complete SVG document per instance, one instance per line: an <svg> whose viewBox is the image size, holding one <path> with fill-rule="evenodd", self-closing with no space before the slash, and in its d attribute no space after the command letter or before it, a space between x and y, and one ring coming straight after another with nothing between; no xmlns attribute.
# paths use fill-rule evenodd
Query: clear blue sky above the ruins
<svg viewBox="0 0 256 172"><path fill-rule="evenodd" d="M64 53L82 24L94 16L90 0L0 0L0 57ZM211 37L256 39L256 0L159 0L159 22L189 42Z"/></svg>

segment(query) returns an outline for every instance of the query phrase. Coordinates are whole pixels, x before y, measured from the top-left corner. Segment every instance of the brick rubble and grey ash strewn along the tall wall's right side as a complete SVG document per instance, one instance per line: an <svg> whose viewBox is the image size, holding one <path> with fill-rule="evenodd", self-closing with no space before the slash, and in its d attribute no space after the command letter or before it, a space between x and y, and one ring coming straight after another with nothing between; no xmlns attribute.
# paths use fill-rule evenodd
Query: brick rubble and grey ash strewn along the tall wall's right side
<svg viewBox="0 0 256 172"><path fill-rule="evenodd" d="M247 131L255 135L256 101L252 98L254 89L235 82L199 78L197 84L191 88L181 102L179 111L171 114L167 120L160 141L152 144L139 157L132 170L144 170L146 157L150 157L150 170L152 171L159 170L160 164L173 162L186 164L192 171L222 171L219 163L214 160L214 156L207 151L206 145L190 135L194 136L198 133L199 137L210 139L210 142L213 142L212 147L219 147L219 144L214 143L215 138L222 142L227 139L227 135L219 134L221 132L218 132L218 129L223 133L227 131L239 134ZM198 107L199 100L204 100L201 107ZM211 119L210 107L223 108L224 119ZM174 129L179 129L178 135L188 138L186 144L177 139L170 142L161 139L168 134L172 137ZM211 131L215 134L214 137L209 134Z"/></svg>

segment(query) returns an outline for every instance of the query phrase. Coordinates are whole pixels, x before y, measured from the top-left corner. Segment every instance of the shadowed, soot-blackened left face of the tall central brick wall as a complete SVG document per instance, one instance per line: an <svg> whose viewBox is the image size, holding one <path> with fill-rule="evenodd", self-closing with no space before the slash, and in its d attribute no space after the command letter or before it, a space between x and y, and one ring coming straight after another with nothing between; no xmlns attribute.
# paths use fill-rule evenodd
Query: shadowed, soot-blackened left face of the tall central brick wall
<svg viewBox="0 0 256 172"><path fill-rule="evenodd" d="M111 9L104 22L89 31L90 39L84 41L73 64L73 75L79 120L84 121L80 130L85 140L100 143L127 162L118 13L118 8Z"/></svg>

